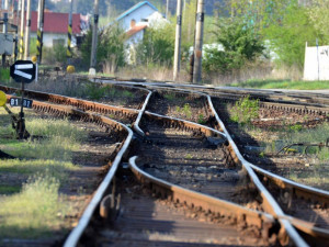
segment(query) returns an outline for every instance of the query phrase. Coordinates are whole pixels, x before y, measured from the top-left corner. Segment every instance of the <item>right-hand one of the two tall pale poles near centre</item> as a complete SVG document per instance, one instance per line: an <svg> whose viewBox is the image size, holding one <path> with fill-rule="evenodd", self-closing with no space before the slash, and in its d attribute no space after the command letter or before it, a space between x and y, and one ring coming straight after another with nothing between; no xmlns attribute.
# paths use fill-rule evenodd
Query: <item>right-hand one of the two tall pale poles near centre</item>
<svg viewBox="0 0 329 247"><path fill-rule="evenodd" d="M198 83L201 82L202 79L201 72L202 72L203 24L204 24L204 0L197 0L193 83Z"/></svg>

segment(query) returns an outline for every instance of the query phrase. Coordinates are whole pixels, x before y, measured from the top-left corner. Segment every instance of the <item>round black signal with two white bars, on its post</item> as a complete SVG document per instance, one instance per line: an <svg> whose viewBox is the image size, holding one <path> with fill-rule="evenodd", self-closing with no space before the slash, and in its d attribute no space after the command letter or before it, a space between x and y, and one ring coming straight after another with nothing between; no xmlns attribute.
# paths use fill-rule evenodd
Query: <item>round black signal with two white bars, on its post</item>
<svg viewBox="0 0 329 247"><path fill-rule="evenodd" d="M22 83L22 99L21 99L21 112L16 125L16 133L19 138L29 138L30 134L25 130L25 119L23 112L24 101L24 83L31 83L35 79L36 67L31 60L16 60L10 66L10 76L16 81Z"/></svg>

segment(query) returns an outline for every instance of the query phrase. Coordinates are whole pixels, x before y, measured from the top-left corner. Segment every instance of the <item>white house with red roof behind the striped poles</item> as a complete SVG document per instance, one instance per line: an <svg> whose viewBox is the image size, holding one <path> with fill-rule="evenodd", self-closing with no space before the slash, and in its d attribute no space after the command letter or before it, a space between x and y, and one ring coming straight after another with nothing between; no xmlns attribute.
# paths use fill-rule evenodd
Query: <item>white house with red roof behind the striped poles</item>
<svg viewBox="0 0 329 247"><path fill-rule="evenodd" d="M43 43L46 47L53 47L55 44L67 44L68 33L68 13L45 12L44 15L44 35ZM72 40L71 46L76 46L77 36L81 35L80 14L72 14ZM37 12L31 12L31 37L36 38Z"/></svg>

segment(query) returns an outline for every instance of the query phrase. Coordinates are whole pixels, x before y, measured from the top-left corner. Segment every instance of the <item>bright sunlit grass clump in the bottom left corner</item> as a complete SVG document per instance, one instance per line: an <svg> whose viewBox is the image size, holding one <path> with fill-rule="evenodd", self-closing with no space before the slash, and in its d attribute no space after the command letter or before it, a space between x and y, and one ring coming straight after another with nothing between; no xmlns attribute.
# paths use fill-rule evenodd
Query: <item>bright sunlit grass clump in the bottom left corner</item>
<svg viewBox="0 0 329 247"><path fill-rule="evenodd" d="M0 207L0 237L36 238L64 231L63 217L68 205L60 201L59 182L38 175L14 195L4 197Z"/></svg>

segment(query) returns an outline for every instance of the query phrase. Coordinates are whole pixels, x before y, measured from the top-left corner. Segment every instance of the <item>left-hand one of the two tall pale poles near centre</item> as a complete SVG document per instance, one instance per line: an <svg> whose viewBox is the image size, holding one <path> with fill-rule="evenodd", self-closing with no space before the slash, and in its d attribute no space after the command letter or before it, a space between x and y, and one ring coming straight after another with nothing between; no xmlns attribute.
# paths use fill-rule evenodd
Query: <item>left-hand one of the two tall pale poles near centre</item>
<svg viewBox="0 0 329 247"><path fill-rule="evenodd" d="M182 33L182 0L177 0L175 43L173 59L173 80L177 80L181 68L181 33Z"/></svg>

